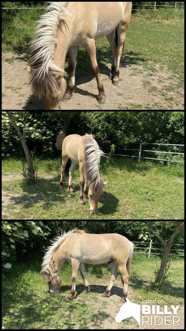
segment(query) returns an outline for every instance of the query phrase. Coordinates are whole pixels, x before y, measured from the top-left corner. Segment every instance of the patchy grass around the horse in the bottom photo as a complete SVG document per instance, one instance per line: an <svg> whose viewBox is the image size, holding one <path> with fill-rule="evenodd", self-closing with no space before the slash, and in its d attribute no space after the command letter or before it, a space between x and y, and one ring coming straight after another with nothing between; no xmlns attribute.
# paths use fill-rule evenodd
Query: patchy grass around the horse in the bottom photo
<svg viewBox="0 0 186 331"><path fill-rule="evenodd" d="M110 323L120 308L118 300L101 300L101 293L110 280L109 265L86 265L90 292L82 294L80 273L77 281L77 298L67 301L71 289L71 266L66 263L61 275L61 293L50 295L47 282L40 277L39 255L22 263L15 263L12 270L3 274L2 281L2 325L5 329L56 329L56 328L100 328L104 321ZM159 257L147 259L143 254L134 254L129 288L130 299L142 304L142 299L164 300L165 305L184 304L184 261L171 260L171 276L161 292L151 292L156 263ZM116 280L111 294L118 293L120 277ZM120 291L121 292L121 291ZM119 293L120 293L119 292ZM110 313L107 307L112 305ZM113 315L113 316L112 316ZM84 318L85 317L85 318ZM133 322L133 320L132 320ZM131 323L127 320L123 323ZM91 327L92 326L92 327Z"/></svg>

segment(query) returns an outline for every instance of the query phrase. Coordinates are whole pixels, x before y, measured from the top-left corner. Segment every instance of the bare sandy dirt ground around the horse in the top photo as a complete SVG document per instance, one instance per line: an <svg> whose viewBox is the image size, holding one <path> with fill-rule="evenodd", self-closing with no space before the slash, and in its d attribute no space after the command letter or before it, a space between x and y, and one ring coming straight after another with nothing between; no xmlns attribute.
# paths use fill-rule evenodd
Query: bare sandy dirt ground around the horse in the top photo
<svg viewBox="0 0 186 331"><path fill-rule="evenodd" d="M44 109L42 101L30 91L28 73L24 69L26 64L25 54L3 54L3 110ZM91 74L89 77L82 74L76 77L74 96L64 102L64 110L184 109L183 89L178 88L179 77L165 66L149 63L149 68L142 65L121 68L120 87L112 85L109 73L110 65L101 70L107 96L105 105L97 102L96 79Z"/></svg>

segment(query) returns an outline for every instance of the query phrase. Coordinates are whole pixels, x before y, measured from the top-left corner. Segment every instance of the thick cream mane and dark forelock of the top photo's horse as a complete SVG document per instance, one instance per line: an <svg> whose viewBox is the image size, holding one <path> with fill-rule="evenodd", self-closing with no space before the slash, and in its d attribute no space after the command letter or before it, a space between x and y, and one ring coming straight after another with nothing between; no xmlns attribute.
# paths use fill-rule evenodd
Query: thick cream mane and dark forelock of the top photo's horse
<svg viewBox="0 0 186 331"><path fill-rule="evenodd" d="M57 97L60 79L55 76L67 73L53 64L58 25L70 13L64 7L66 2L51 2L46 13L39 20L35 40L29 49L28 64L32 68L29 84L40 98L46 95Z"/></svg>

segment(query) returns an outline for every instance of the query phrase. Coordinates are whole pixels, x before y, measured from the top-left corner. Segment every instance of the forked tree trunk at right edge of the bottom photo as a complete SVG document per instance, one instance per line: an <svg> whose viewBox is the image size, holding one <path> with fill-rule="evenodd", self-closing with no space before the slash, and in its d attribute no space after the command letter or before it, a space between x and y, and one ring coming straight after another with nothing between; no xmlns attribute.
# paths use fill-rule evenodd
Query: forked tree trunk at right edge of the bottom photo
<svg viewBox="0 0 186 331"><path fill-rule="evenodd" d="M147 221L148 225L149 225L149 231L157 237L157 239L162 243L163 245L163 256L162 256L162 262L161 262L161 266L160 269L158 270L157 274L156 274L156 280L154 282L153 285L153 289L159 289L162 287L163 281L165 279L165 274L168 270L168 262L169 262L169 253L170 253L170 249L171 246L173 244L174 238L178 235L178 233L180 232L181 226L184 224L183 221L176 221L175 226L174 226L174 230L173 233L171 234L170 238L168 239L168 241L166 242L160 235L158 235L154 229L153 229L153 223L154 221Z"/></svg>

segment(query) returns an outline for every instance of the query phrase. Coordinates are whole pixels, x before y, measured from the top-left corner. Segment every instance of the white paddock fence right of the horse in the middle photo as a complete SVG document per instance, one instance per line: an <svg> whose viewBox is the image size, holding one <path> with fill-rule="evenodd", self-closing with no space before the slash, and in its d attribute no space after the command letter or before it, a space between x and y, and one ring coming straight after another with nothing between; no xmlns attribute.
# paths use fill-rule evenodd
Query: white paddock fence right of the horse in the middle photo
<svg viewBox="0 0 186 331"><path fill-rule="evenodd" d="M184 153L181 153L181 152L175 152L176 148L183 148L184 145L179 145L179 144L152 144L152 143L143 143L142 141L139 143L139 144L135 144L134 145L139 145L139 148L138 149L130 149L130 148L117 148L115 146L115 151L118 151L120 152L120 154L118 153L115 153L115 151L112 153L112 155L115 155L115 156L121 156L121 157L133 157L133 158L137 158L138 159L138 162L141 161L141 159L148 159L148 160L158 160L158 161L167 161L167 162L176 162L176 163L184 163L184 160L183 161L180 161L180 160L174 160L174 159L165 159L165 158L154 158L154 157L151 157L153 153L155 154L163 154L164 155L182 155L182 157L184 158ZM151 146L174 146L174 151L161 151L161 150L149 150L149 149L146 149L145 147L147 145L151 145ZM144 146L144 149L143 149L143 146ZM126 155L126 154L121 154L122 151L135 151L137 155ZM144 153L148 153L148 156L142 156L144 155Z"/></svg>

